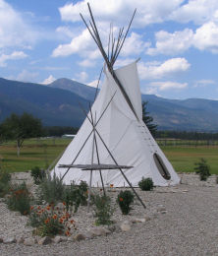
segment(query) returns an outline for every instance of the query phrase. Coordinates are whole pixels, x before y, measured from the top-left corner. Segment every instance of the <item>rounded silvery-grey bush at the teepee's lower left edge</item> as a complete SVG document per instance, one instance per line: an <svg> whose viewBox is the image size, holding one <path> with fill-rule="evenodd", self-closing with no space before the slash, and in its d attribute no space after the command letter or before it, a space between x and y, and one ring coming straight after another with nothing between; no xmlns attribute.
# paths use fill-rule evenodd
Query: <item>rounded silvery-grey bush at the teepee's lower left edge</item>
<svg viewBox="0 0 218 256"><path fill-rule="evenodd" d="M64 201L66 187L61 178L54 173L45 177L38 186L38 195L40 200L45 200L49 204L56 204Z"/></svg>

